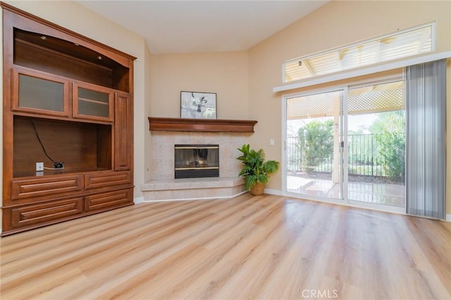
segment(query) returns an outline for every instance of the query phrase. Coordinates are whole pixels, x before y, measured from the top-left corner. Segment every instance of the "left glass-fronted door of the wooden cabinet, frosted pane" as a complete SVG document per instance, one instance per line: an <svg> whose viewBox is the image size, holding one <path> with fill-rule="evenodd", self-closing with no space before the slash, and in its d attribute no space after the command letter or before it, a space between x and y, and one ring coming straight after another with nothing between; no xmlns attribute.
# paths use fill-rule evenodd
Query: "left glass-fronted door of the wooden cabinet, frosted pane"
<svg viewBox="0 0 451 300"><path fill-rule="evenodd" d="M13 86L13 110L68 116L68 81L14 69Z"/></svg>

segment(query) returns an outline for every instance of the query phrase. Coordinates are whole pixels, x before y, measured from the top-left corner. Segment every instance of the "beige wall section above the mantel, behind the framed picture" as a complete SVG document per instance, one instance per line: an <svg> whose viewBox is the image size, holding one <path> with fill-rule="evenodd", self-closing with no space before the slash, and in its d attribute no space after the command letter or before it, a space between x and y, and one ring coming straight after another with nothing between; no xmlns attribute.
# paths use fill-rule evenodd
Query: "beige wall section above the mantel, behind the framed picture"
<svg viewBox="0 0 451 300"><path fill-rule="evenodd" d="M152 55L152 116L180 117L180 91L216 92L218 119L247 119L247 52Z"/></svg>

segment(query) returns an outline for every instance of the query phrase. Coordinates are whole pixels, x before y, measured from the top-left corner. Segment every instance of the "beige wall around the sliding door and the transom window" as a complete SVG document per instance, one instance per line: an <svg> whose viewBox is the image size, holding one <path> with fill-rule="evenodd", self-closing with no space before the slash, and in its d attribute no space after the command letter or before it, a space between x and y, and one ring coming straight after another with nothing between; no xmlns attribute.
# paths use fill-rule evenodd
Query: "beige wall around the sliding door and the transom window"
<svg viewBox="0 0 451 300"><path fill-rule="evenodd" d="M259 126L250 142L256 148L265 148L268 157L281 160L280 118L281 97L284 93L274 93L272 88L283 84L283 61L434 20L437 24L437 52L450 51L450 12L450 1L331 1L253 47L249 50L249 106L256 108L249 109L249 118L259 120ZM352 79L348 80L351 81ZM448 102L450 90L451 86L448 88ZM451 119L447 122L448 138L450 124ZM269 146L269 140L273 137L276 137L276 147ZM447 152L447 157L447 186L451 186L450 151ZM273 176L268 188L282 188L280 172ZM450 213L451 192L447 191L447 214Z"/></svg>

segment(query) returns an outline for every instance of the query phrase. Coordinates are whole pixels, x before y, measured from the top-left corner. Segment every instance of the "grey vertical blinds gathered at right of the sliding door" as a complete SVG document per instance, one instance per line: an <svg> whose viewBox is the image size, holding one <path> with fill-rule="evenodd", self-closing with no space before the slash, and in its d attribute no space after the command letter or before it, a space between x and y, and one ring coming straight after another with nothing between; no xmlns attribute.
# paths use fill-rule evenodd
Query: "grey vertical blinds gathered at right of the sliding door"
<svg viewBox="0 0 451 300"><path fill-rule="evenodd" d="M446 61L406 70L407 213L445 220Z"/></svg>

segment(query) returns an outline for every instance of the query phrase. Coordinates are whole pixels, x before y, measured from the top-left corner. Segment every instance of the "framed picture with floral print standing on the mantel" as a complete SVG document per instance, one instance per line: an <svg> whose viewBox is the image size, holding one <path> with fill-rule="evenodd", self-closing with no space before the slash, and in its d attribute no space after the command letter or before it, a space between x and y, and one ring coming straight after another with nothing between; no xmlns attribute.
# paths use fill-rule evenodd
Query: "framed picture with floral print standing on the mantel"
<svg viewBox="0 0 451 300"><path fill-rule="evenodd" d="M180 117L216 119L215 92L180 92Z"/></svg>

